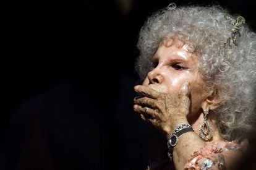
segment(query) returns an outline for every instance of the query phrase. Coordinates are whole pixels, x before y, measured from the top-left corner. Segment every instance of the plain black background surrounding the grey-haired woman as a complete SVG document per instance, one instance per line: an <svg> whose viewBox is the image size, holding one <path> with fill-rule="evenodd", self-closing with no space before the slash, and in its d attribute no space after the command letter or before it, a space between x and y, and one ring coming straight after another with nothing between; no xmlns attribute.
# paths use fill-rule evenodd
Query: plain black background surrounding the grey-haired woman
<svg viewBox="0 0 256 170"><path fill-rule="evenodd" d="M139 29L176 2L9 2L1 169L145 169L166 141L135 114ZM220 1L255 30L252 1ZM248 159L250 169L254 156Z"/></svg>

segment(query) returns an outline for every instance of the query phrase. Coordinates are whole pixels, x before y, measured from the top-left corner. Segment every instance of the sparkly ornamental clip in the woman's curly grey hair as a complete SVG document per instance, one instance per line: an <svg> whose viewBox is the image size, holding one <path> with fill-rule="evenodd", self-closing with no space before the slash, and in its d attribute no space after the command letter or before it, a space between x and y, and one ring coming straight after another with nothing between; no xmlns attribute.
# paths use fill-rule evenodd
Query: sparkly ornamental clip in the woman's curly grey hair
<svg viewBox="0 0 256 170"><path fill-rule="evenodd" d="M230 23L233 25L231 37L228 38L227 42L224 43L224 48L237 46L236 35L241 36L239 32L239 27L245 24L245 19L242 16L236 17L236 19L231 19L231 17L225 16L226 19L230 20Z"/></svg>

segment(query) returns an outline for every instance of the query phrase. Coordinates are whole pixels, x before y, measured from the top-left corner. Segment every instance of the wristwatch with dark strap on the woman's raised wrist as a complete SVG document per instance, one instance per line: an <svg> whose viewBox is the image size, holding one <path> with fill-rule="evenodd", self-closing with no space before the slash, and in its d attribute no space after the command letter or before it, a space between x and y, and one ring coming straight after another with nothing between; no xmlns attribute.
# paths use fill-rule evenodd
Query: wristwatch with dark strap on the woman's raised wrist
<svg viewBox="0 0 256 170"><path fill-rule="evenodd" d="M168 146L168 156L169 158L172 159L172 153L173 153L173 148L177 145L178 138L187 133L187 132L194 132L194 129L190 124L181 124L179 125L173 132L173 134L170 135L167 146Z"/></svg>

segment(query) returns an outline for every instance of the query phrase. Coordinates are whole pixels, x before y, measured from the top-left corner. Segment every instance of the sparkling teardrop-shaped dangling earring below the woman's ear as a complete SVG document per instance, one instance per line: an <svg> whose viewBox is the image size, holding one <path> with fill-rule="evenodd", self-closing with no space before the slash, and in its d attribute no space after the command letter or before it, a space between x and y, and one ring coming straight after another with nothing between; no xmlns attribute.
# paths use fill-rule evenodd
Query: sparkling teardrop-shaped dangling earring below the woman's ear
<svg viewBox="0 0 256 170"><path fill-rule="evenodd" d="M205 109L203 111L203 123L199 127L199 134L202 140L208 141L213 137L213 130L211 129L211 125L207 121L207 114L209 113L209 109Z"/></svg>

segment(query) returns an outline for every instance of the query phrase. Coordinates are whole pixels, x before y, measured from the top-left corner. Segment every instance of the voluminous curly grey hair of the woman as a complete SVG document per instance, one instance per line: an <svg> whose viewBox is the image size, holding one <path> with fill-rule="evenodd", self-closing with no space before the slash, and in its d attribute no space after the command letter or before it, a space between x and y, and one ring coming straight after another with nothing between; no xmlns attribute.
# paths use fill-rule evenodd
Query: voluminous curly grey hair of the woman
<svg viewBox="0 0 256 170"><path fill-rule="evenodd" d="M165 8L148 18L140 30L140 55L135 68L144 79L151 59L166 38L178 38L200 53L200 72L221 100L213 110L226 140L249 138L255 132L256 35L248 25L240 28L237 46L224 48L234 18L220 6Z"/></svg>

